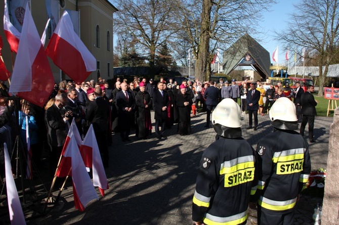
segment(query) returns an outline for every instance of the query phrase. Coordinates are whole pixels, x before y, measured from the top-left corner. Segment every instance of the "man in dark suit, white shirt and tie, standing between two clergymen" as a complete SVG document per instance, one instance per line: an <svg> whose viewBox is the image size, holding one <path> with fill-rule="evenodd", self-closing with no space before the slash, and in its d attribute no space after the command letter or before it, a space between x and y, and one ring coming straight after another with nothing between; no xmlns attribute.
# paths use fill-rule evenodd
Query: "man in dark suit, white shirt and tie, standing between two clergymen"
<svg viewBox="0 0 339 225"><path fill-rule="evenodd" d="M163 90L163 83L159 82L157 86L158 89L153 93L155 134L158 139L166 139L163 133L166 127L167 105L170 103L170 98L167 91ZM161 127L161 131L159 131L159 127Z"/></svg>

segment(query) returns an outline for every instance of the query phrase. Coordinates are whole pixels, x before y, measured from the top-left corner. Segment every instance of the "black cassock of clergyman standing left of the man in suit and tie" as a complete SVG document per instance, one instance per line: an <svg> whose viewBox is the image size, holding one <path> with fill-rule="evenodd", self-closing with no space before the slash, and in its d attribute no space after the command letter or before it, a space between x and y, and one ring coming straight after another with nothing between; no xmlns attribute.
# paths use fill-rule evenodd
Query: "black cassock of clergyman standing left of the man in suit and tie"
<svg viewBox="0 0 339 225"><path fill-rule="evenodd" d="M147 138L152 132L151 111L152 99L148 92L139 91L136 96L137 125L139 127L139 138ZM148 105L148 108L146 108Z"/></svg>

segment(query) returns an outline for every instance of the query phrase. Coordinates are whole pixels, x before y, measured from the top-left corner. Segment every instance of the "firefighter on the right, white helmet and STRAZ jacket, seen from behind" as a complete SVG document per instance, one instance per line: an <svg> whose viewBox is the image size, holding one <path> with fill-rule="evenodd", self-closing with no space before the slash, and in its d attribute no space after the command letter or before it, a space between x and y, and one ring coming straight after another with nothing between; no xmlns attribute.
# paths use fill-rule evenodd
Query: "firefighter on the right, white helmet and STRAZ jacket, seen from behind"
<svg viewBox="0 0 339 225"><path fill-rule="evenodd" d="M258 224L293 224L295 203L311 172L309 145L295 131L298 118L288 98L278 98L269 117L274 132L256 150Z"/></svg>

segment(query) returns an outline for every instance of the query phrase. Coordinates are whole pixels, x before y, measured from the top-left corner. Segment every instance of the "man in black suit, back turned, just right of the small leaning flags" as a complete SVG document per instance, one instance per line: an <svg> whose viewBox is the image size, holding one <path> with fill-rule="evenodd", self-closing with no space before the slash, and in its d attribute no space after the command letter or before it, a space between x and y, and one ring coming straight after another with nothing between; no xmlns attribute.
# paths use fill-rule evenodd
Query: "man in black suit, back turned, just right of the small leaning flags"
<svg viewBox="0 0 339 225"><path fill-rule="evenodd" d="M93 125L95 137L98 142L102 163L105 168L109 166L107 147L107 130L109 118L109 103L102 97L101 87L94 89L96 99L91 101L86 112L86 120Z"/></svg>

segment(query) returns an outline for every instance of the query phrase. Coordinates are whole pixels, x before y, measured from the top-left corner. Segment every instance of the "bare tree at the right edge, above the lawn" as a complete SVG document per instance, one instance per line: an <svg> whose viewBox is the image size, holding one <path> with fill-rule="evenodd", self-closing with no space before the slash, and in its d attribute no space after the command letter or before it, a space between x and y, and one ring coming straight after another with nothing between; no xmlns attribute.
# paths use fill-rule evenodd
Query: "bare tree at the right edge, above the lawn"
<svg viewBox="0 0 339 225"><path fill-rule="evenodd" d="M295 5L288 29L284 33L276 32L277 38L283 41L287 49L313 51L307 57L317 60L319 66L319 92L322 89L328 72L328 66L338 57L339 29L338 0L303 0ZM296 50L299 49L299 50ZM323 70L324 67L324 70Z"/></svg>

